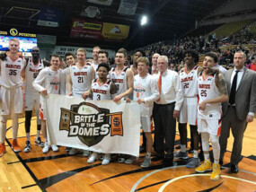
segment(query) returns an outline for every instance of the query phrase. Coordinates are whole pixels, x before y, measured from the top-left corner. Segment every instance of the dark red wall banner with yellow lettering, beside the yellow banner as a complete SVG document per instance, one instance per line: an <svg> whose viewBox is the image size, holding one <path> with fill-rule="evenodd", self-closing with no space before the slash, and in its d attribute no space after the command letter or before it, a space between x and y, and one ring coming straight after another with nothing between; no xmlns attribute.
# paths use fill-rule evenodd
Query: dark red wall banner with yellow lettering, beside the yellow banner
<svg viewBox="0 0 256 192"><path fill-rule="evenodd" d="M73 19L70 38L102 39L102 22Z"/></svg>

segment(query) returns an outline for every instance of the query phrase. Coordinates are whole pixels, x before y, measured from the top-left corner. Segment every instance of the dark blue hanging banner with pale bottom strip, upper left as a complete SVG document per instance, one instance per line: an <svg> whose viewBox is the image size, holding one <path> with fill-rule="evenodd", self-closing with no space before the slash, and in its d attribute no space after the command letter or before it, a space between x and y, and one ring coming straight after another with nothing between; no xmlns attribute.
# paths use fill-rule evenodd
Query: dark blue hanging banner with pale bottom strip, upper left
<svg viewBox="0 0 256 192"><path fill-rule="evenodd" d="M38 25L47 27L58 27L58 22L61 17L61 12L58 9L49 7L40 7Z"/></svg>

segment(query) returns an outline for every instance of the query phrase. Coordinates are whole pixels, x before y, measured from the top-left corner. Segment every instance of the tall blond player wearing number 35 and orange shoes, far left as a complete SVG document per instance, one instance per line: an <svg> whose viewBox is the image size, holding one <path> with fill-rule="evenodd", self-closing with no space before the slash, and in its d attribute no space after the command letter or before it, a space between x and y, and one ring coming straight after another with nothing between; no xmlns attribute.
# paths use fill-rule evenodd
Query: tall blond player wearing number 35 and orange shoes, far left
<svg viewBox="0 0 256 192"><path fill-rule="evenodd" d="M4 139L6 135L6 122L9 114L13 120L13 151L19 153L22 148L17 142L18 114L22 113L22 78L21 72L24 60L19 57L20 42L18 39L10 39L8 55L0 59L0 99L1 99L1 124L0 124L0 157L6 152Z"/></svg>

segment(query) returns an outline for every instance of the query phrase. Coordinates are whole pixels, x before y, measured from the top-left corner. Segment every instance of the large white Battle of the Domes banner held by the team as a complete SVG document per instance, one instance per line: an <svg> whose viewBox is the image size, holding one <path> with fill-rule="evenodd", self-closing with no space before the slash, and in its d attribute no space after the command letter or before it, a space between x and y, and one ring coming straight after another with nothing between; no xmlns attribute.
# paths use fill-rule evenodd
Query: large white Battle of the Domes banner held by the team
<svg viewBox="0 0 256 192"><path fill-rule="evenodd" d="M139 155L140 111L137 102L50 94L46 117L50 144L98 153Z"/></svg>

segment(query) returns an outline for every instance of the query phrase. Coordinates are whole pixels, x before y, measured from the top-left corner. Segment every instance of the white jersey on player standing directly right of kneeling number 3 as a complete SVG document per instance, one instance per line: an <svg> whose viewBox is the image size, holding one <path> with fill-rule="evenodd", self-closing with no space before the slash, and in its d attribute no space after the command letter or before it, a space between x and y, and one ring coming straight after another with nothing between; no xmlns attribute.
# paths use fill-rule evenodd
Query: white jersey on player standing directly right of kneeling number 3
<svg viewBox="0 0 256 192"><path fill-rule="evenodd" d="M117 86L117 94L121 94L128 90L128 83L127 83L127 70L128 67L125 67L120 74L115 72L116 68L112 68L110 71L110 80L116 84Z"/></svg>

